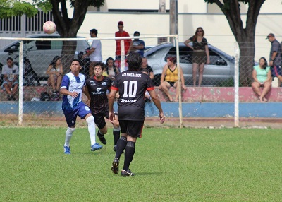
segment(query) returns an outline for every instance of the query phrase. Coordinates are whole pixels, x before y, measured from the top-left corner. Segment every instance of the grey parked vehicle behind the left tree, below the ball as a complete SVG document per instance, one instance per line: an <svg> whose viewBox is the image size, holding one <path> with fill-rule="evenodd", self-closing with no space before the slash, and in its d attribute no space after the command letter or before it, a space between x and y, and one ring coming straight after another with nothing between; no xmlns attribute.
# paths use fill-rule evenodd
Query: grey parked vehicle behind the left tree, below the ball
<svg viewBox="0 0 282 202"><path fill-rule="evenodd" d="M30 35L25 38L60 38L60 35L53 34L39 34L39 35ZM82 37L79 37L82 38ZM6 64L6 59L8 57L13 58L14 62L18 62L19 58L19 47L20 42L15 41L11 44L8 44L6 47L0 49L0 63ZM23 41L23 56L27 57L30 60L30 64L34 69L35 73L39 78L46 80L48 78L46 70L51 63L52 59L56 55L61 55L61 50L63 47L63 41L37 41L37 40L25 40ZM87 40L78 40L76 51L73 52L73 55L77 57L79 52L85 52L89 44ZM73 56L72 56L73 57Z"/></svg>

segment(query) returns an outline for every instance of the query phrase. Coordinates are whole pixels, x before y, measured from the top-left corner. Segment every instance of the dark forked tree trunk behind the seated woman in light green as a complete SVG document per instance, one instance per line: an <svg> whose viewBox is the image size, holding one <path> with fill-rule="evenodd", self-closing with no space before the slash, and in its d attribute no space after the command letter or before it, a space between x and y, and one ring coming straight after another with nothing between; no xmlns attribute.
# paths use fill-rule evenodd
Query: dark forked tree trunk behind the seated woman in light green
<svg viewBox="0 0 282 202"><path fill-rule="evenodd" d="M215 3L226 16L240 49L240 85L250 85L255 57L255 28L259 10L265 0L223 0L223 3L221 0L204 1L209 4ZM241 20L240 2L248 4L245 28Z"/></svg>

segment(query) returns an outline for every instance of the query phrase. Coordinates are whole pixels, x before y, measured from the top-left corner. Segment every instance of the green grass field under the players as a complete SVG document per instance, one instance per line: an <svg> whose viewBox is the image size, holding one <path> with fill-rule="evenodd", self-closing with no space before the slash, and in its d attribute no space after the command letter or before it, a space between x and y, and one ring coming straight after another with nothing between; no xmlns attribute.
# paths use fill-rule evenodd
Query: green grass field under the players
<svg viewBox="0 0 282 202"><path fill-rule="evenodd" d="M111 129L95 152L76 129L71 155L65 131L0 129L0 201L282 201L278 129L144 129L134 177L111 172Z"/></svg>

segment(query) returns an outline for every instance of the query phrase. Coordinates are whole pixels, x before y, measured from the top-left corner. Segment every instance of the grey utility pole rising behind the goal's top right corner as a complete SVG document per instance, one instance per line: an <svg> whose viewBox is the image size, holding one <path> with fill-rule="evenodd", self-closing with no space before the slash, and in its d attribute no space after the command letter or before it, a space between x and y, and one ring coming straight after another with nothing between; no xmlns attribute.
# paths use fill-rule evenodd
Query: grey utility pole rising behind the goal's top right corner
<svg viewBox="0 0 282 202"><path fill-rule="evenodd" d="M178 35L178 0L170 0L169 9L169 34ZM171 38L171 42L173 39Z"/></svg>

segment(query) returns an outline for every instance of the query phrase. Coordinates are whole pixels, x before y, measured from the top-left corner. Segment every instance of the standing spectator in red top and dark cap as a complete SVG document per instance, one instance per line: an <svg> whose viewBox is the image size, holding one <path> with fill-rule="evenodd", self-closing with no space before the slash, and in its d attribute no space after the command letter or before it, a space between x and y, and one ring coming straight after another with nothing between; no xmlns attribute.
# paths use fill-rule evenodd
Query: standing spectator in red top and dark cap
<svg viewBox="0 0 282 202"><path fill-rule="evenodd" d="M123 30L123 21L118 22L118 32L115 33L115 37L129 37L128 32ZM118 68L121 68L121 41L122 40L116 40L116 66L118 66ZM131 40L127 39L123 41L125 49L124 54L128 54Z"/></svg>

